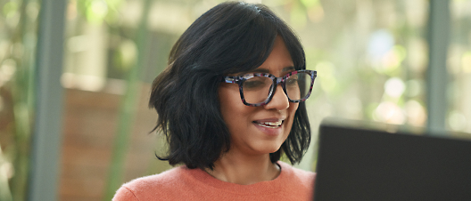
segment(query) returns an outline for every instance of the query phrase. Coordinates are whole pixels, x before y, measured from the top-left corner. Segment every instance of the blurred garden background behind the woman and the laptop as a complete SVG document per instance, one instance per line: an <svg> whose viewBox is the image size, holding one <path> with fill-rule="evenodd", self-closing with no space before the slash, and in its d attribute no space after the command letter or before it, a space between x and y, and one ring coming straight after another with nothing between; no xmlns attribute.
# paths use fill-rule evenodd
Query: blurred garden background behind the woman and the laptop
<svg viewBox="0 0 471 201"><path fill-rule="evenodd" d="M2 201L110 200L169 169L154 156L165 145L150 133L150 85L178 36L222 1L59 2L0 0ZM314 170L324 117L471 137L471 0L247 2L287 21L318 71L302 169Z"/></svg>

